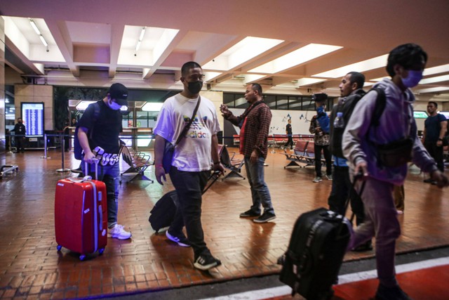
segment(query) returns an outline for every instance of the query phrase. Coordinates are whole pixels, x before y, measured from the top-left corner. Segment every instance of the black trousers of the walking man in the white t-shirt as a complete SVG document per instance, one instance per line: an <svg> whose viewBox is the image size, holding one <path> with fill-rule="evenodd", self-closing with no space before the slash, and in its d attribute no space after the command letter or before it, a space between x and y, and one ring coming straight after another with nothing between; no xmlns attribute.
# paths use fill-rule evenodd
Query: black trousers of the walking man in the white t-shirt
<svg viewBox="0 0 449 300"><path fill-rule="evenodd" d="M170 178L177 192L177 217L175 216L175 222L170 226L170 233L176 235L182 230L179 219L181 215L195 259L201 254L210 254L201 226L201 196L209 175L210 171L186 172L175 167L170 169Z"/></svg>

